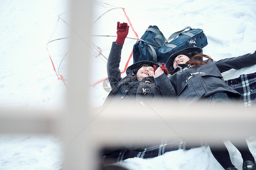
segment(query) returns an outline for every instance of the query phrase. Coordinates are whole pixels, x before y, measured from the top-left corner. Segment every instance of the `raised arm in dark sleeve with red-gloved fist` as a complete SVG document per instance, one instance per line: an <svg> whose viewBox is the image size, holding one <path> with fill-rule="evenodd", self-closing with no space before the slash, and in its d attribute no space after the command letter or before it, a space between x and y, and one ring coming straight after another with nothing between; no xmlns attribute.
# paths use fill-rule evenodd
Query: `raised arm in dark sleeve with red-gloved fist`
<svg viewBox="0 0 256 170"><path fill-rule="evenodd" d="M108 80L111 88L113 88L118 81L120 81L121 73L119 70L119 63L121 60L121 51L123 48L123 43L125 38L128 35L129 26L127 23L118 22L117 24L117 40L112 43L112 47L110 50L110 54L108 56L107 63L107 72L108 72Z"/></svg>

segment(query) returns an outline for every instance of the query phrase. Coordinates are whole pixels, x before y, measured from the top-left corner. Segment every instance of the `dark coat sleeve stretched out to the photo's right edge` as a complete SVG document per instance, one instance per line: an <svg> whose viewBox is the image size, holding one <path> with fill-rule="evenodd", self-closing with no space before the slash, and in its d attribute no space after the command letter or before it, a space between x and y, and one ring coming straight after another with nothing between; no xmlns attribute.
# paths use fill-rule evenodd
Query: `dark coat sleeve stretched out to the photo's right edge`
<svg viewBox="0 0 256 170"><path fill-rule="evenodd" d="M241 55L238 57L226 58L215 61L220 73L230 69L241 69L256 64L256 51L253 54Z"/></svg>

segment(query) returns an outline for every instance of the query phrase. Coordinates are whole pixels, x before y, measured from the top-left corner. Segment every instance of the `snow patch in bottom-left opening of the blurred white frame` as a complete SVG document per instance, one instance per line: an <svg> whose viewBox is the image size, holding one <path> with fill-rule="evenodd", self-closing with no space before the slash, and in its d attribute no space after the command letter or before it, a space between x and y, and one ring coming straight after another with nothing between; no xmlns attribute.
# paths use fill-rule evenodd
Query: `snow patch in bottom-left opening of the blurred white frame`
<svg viewBox="0 0 256 170"><path fill-rule="evenodd" d="M1 170L59 170L61 141L52 135L1 135Z"/></svg>

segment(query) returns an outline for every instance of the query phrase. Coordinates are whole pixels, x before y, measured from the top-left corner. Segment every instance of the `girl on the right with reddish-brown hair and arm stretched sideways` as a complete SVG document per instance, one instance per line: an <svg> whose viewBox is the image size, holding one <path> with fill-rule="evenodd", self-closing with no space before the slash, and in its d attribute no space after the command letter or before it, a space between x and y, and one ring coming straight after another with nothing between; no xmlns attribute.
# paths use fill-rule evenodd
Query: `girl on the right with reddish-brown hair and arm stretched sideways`
<svg viewBox="0 0 256 170"><path fill-rule="evenodd" d="M164 97L176 97L184 104L192 104L202 99L207 100L210 105L240 100L241 94L225 83L221 73L232 68L241 69L255 65L256 52L213 61L208 55L202 54L202 51L199 47L189 47L171 55L166 62L166 67L171 72L169 78L163 74L163 70L155 68L155 93ZM207 60L204 61L203 57ZM241 146L236 148L243 158L243 170L256 170L255 160L246 140ZM224 143L220 143L218 148L210 145L210 149L225 170L237 170L231 163Z"/></svg>

